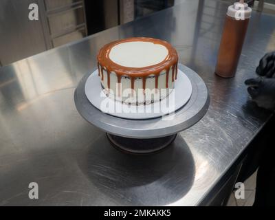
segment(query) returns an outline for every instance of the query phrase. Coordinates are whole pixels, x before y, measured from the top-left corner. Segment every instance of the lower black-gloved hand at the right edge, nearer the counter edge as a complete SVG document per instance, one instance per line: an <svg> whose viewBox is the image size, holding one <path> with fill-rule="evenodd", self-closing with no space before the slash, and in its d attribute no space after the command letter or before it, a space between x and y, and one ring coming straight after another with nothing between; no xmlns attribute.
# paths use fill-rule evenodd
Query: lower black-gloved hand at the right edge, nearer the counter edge
<svg viewBox="0 0 275 220"><path fill-rule="evenodd" d="M252 101L259 107L275 109L275 78L250 78L245 80Z"/></svg>

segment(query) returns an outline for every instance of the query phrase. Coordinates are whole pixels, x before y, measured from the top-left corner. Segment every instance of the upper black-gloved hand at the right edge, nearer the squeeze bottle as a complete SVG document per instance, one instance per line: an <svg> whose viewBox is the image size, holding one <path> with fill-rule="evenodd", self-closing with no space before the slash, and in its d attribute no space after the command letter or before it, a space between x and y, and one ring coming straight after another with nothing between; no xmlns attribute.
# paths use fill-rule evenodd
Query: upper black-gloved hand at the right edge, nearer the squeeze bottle
<svg viewBox="0 0 275 220"><path fill-rule="evenodd" d="M267 78L271 78L275 74L275 52L267 53L261 58L256 73Z"/></svg>

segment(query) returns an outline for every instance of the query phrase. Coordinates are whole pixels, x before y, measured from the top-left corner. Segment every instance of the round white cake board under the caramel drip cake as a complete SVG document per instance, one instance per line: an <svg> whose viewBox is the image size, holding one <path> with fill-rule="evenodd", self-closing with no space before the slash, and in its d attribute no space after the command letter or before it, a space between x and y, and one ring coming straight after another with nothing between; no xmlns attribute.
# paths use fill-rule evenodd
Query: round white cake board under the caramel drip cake
<svg viewBox="0 0 275 220"><path fill-rule="evenodd" d="M104 113L108 113L109 115L119 118L142 120L158 118L163 115L173 113L183 107L192 95L192 84L186 74L178 69L177 80L175 80L175 89L173 89L169 96L160 102L154 102L152 104L139 106L128 105L108 98L104 94L100 83L100 77L98 76L98 70L96 69L87 78L85 83L85 94L89 102ZM106 106L106 103L108 102L108 105L111 106L109 111L108 109L102 109L102 102L104 103L102 106ZM162 104L166 105L166 103L173 104L169 104L168 107L163 107ZM156 111L152 111L152 109L155 109Z"/></svg>

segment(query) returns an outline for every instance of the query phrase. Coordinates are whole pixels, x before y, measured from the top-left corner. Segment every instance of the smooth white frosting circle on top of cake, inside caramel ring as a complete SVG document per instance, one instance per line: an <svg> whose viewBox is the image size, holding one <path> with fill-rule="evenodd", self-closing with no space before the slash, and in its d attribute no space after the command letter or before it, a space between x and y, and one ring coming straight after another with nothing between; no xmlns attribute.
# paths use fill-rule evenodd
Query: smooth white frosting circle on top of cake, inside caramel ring
<svg viewBox="0 0 275 220"><path fill-rule="evenodd" d="M124 67L148 67L161 63L168 55L164 45L152 42L133 41L115 45L109 58L113 63Z"/></svg>

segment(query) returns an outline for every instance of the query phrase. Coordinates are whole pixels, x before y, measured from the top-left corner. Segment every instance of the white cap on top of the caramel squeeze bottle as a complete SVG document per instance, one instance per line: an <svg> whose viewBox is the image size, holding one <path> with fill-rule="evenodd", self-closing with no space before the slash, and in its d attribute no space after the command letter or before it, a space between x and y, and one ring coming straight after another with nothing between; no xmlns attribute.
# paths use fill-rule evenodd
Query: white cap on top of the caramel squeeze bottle
<svg viewBox="0 0 275 220"><path fill-rule="evenodd" d="M252 9L248 7L247 3L235 2L234 5L228 7L226 14L236 20L244 20L251 17Z"/></svg>

